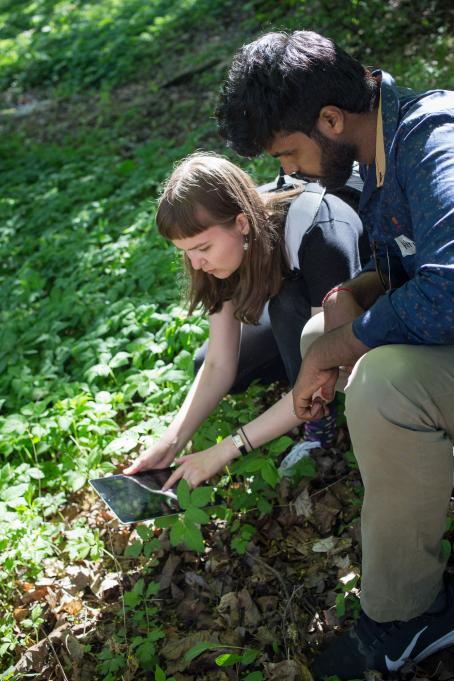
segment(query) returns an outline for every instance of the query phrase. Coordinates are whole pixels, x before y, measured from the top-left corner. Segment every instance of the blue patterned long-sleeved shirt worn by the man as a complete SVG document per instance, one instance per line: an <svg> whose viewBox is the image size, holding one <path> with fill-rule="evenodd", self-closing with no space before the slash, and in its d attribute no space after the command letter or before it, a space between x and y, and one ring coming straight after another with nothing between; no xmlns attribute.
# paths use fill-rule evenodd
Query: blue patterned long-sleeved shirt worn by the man
<svg viewBox="0 0 454 681"><path fill-rule="evenodd" d="M377 188L375 163L361 167L359 214L391 290L353 333L369 348L454 344L454 92L381 75L386 172Z"/></svg>

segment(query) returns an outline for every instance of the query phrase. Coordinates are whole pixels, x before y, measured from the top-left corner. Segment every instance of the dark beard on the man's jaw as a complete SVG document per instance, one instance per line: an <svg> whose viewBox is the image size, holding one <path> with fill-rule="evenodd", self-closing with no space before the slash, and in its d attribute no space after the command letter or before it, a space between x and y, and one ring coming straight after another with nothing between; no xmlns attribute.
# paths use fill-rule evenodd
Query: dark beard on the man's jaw
<svg viewBox="0 0 454 681"><path fill-rule="evenodd" d="M353 163L357 157L356 147L345 142L333 142L314 128L311 139L317 142L321 151L321 176L318 181L328 191L334 191L345 186L352 174Z"/></svg>

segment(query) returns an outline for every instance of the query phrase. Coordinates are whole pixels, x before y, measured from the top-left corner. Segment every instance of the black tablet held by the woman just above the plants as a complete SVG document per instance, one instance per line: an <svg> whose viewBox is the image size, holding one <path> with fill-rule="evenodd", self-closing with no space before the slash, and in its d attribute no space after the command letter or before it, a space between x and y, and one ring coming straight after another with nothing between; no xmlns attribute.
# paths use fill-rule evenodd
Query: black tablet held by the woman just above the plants
<svg viewBox="0 0 454 681"><path fill-rule="evenodd" d="M171 468L135 475L120 473L89 483L121 523L137 523L181 511L175 490L161 491L171 473Z"/></svg>

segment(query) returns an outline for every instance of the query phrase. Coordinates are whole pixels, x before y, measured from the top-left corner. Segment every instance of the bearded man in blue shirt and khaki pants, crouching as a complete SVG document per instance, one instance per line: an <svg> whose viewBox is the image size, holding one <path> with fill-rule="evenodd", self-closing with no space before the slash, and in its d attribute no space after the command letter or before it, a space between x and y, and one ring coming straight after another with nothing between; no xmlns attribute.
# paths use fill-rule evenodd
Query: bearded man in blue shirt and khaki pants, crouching
<svg viewBox="0 0 454 681"><path fill-rule="evenodd" d="M317 679L395 671L454 643L441 551L453 481L454 93L414 92L311 31L235 56L217 111L238 153L342 186L358 161L374 259L302 336L294 409L320 418L339 368L361 471L361 615L316 658Z"/></svg>

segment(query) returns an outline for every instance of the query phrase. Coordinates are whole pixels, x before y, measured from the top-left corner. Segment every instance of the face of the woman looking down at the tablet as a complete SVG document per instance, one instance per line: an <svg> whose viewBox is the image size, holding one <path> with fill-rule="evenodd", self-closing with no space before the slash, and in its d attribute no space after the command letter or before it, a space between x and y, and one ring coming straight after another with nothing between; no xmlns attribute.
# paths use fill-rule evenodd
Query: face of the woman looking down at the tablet
<svg viewBox="0 0 454 681"><path fill-rule="evenodd" d="M249 221L240 213L233 226L215 224L196 236L173 239L172 243L186 253L195 270L203 270L217 279L227 279L243 261L248 233Z"/></svg>

